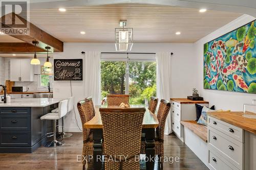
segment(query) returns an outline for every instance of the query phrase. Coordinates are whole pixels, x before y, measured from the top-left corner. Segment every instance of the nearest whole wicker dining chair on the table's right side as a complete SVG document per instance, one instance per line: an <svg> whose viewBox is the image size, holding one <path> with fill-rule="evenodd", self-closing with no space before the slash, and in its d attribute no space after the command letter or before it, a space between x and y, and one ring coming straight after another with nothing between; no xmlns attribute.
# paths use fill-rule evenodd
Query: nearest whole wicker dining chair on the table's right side
<svg viewBox="0 0 256 170"><path fill-rule="evenodd" d="M166 100L161 100L157 112L158 127L155 133L155 154L160 157L161 169L163 169L163 157L164 157L164 127L167 115L170 110L170 103ZM141 154L145 154L145 141L141 142Z"/></svg>

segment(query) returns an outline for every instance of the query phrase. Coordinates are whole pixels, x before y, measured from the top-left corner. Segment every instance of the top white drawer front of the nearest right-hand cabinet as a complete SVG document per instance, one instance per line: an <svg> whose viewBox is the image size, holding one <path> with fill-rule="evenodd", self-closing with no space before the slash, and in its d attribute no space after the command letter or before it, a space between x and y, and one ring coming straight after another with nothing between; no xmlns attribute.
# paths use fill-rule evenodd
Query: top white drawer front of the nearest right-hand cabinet
<svg viewBox="0 0 256 170"><path fill-rule="evenodd" d="M208 116L208 126L225 133L226 135L237 139L240 142L244 142L243 129L230 125L222 120Z"/></svg>

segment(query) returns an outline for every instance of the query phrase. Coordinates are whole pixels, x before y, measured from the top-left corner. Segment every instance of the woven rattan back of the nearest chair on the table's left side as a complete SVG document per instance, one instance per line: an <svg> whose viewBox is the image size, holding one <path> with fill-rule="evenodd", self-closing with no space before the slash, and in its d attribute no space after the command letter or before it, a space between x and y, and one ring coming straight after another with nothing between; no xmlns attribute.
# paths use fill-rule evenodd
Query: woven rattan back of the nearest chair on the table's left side
<svg viewBox="0 0 256 170"><path fill-rule="evenodd" d="M79 101L77 103L77 109L80 115L82 125L92 119L92 105L89 100ZM91 130L84 128L84 126L82 126L82 132L83 132L83 141L86 141L89 138Z"/></svg>

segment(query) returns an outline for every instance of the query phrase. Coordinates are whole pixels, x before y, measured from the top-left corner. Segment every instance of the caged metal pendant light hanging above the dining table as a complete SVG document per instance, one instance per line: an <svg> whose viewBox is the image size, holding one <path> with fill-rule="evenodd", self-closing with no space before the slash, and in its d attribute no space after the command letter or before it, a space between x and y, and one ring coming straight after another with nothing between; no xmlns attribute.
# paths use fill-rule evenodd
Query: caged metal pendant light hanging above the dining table
<svg viewBox="0 0 256 170"><path fill-rule="evenodd" d="M127 25L126 20L120 20L119 26L115 29L116 51L131 51L133 47L133 29L124 28Z"/></svg>

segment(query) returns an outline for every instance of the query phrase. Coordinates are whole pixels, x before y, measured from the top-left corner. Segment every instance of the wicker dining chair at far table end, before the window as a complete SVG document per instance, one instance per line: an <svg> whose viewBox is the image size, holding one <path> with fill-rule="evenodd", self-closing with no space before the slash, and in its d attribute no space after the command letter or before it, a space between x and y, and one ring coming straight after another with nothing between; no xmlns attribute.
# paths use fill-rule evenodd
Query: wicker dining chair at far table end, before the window
<svg viewBox="0 0 256 170"><path fill-rule="evenodd" d="M106 95L108 106L119 106L122 102L129 103L129 94L108 94Z"/></svg>

